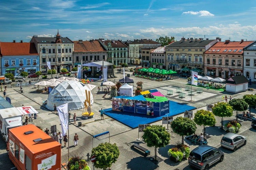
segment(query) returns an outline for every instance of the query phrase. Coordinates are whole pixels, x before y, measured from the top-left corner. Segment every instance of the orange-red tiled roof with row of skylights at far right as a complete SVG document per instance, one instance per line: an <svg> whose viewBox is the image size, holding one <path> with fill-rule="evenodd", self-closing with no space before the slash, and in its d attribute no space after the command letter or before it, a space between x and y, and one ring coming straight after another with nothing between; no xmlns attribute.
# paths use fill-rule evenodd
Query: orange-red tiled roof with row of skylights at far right
<svg viewBox="0 0 256 170"><path fill-rule="evenodd" d="M242 54L243 48L252 44L254 41L232 41L218 42L204 53L207 54Z"/></svg>

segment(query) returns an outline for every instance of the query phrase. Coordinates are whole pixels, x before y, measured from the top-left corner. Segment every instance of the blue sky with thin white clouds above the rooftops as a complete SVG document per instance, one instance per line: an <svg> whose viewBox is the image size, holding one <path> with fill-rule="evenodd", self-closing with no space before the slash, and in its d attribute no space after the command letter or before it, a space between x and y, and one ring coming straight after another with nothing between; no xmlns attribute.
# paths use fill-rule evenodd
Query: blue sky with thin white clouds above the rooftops
<svg viewBox="0 0 256 170"><path fill-rule="evenodd" d="M0 40L256 40L255 0L0 0Z"/></svg>

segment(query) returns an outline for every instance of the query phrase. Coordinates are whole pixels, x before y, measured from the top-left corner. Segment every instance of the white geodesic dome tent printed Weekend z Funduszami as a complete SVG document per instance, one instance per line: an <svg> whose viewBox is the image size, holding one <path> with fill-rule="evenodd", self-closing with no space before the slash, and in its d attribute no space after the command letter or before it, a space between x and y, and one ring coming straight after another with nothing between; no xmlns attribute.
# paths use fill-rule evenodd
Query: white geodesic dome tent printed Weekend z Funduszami
<svg viewBox="0 0 256 170"><path fill-rule="evenodd" d="M84 108L84 101L86 99L85 90L90 89L83 83L77 81L66 81L58 84L53 88L47 98L46 108L53 110L54 104L60 106L68 103L69 110L77 110ZM93 95L90 92L91 104L93 104Z"/></svg>

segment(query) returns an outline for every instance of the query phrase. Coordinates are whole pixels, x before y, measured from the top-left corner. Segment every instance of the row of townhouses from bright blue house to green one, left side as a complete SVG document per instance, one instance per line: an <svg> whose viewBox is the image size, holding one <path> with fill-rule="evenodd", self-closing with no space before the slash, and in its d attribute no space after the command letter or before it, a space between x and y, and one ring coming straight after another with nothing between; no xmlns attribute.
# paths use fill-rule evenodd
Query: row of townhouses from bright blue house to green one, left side
<svg viewBox="0 0 256 170"><path fill-rule="evenodd" d="M47 62L60 72L62 68L72 70L78 64L108 61L114 65L128 61L128 47L119 40L72 41L68 37L38 37L34 35L30 43L0 42L0 75L26 71L47 73Z"/></svg>

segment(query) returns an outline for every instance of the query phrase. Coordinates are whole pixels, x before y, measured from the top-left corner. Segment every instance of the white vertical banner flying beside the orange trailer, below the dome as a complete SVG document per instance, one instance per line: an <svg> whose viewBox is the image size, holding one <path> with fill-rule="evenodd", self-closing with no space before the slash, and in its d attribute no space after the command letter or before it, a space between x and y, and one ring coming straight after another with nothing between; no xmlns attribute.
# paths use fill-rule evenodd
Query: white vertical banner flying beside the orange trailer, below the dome
<svg viewBox="0 0 256 170"><path fill-rule="evenodd" d="M57 107L57 111L59 114L61 129L62 129L62 135L65 136L67 130L68 130L68 103L62 104Z"/></svg>

